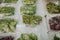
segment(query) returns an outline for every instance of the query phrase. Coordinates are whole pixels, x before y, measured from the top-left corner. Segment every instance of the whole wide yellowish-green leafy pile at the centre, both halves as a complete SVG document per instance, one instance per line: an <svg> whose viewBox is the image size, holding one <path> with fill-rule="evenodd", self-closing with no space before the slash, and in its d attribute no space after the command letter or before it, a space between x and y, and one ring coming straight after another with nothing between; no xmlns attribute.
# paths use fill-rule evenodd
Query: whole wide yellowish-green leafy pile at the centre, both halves
<svg viewBox="0 0 60 40"><path fill-rule="evenodd" d="M41 21L41 16L23 15L23 23L25 24L38 25Z"/></svg>

